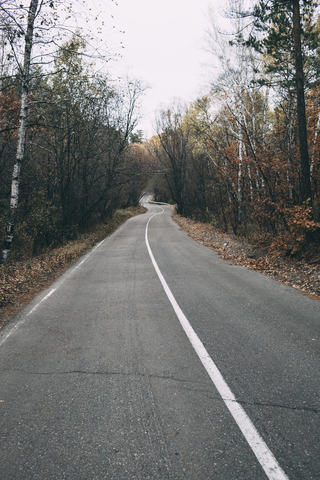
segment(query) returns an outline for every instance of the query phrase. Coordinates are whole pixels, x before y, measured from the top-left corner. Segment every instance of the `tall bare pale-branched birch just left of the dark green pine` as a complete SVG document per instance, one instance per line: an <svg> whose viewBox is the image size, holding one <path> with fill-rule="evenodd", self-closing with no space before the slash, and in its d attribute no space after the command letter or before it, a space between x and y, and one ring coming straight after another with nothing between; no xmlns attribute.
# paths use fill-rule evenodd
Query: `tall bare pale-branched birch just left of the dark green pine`
<svg viewBox="0 0 320 480"><path fill-rule="evenodd" d="M216 108L219 105L220 109L219 119L228 129L228 135L238 143L237 179L233 181L237 189L240 221L245 172L248 172L251 200L253 200L254 188L258 193L260 189L264 189L262 165L257 154L257 146L263 144L266 139L268 90L259 83L261 74L258 72L262 71L260 59L254 50L248 48L243 42L243 32L246 31L246 20L242 15L243 1L231 1L229 4L228 33L220 31L215 17L211 15L207 49L215 59L215 69L220 72L220 75L210 79L214 102ZM262 102L263 118L259 112Z"/></svg>

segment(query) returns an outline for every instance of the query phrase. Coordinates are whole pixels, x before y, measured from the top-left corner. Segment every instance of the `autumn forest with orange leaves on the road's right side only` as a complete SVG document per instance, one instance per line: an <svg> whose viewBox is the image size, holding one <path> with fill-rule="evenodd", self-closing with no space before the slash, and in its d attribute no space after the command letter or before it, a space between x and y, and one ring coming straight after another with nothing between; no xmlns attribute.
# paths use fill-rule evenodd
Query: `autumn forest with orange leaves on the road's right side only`
<svg viewBox="0 0 320 480"><path fill-rule="evenodd" d="M158 112L155 198L271 255L319 261L317 4L260 1L250 15L233 5L231 40L211 19L207 45L220 74L208 93Z"/></svg>

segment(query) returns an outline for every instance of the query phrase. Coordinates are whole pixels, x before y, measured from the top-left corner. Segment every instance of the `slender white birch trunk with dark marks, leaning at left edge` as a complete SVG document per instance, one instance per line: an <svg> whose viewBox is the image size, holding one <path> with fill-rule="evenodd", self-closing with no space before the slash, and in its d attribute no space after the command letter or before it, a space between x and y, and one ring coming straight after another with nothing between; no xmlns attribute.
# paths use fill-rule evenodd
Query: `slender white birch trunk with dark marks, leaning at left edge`
<svg viewBox="0 0 320 480"><path fill-rule="evenodd" d="M13 240L13 230L15 225L15 218L18 208L19 200L19 179L20 179L20 169L21 163L24 157L25 150L25 138L26 138L26 120L28 112L28 93L29 93L29 81L30 81L30 60L31 60L31 50L33 45L33 27L35 16L37 12L39 0L31 0L28 12L28 25L27 33L25 36L25 50L24 50L24 62L23 62L23 72L21 75L22 79L22 93L21 93L21 107L20 107L20 119L19 119L19 130L18 130L18 146L17 146L17 155L16 162L13 167L12 174L12 184L11 184L11 201L10 201L10 213L9 219L6 225L6 231L3 242L2 249L2 263L7 263L9 260L12 240Z"/></svg>

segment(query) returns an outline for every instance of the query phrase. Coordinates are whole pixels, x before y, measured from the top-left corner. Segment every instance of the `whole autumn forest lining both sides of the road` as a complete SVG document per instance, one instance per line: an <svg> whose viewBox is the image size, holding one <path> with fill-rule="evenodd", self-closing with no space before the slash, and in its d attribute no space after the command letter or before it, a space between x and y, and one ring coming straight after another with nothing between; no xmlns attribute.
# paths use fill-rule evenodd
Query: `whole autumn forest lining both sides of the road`
<svg viewBox="0 0 320 480"><path fill-rule="evenodd" d="M81 32L55 41L50 61L41 53L63 2L0 3L3 263L11 243L11 260L38 255L138 205L145 190L271 254L317 258L314 1L261 0L250 12L234 1L229 36L212 18L206 41L219 74L192 103L159 110L145 141L141 81L97 73Z"/></svg>

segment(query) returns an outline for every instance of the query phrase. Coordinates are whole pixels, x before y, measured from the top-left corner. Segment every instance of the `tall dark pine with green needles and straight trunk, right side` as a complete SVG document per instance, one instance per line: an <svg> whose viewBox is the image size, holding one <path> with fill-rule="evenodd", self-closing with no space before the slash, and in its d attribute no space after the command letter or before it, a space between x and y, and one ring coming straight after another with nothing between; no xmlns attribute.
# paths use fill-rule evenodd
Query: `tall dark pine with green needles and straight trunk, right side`
<svg viewBox="0 0 320 480"><path fill-rule="evenodd" d="M269 63L269 71L276 72L281 76L286 57L289 57L287 65L294 65L301 165L301 200L303 202L312 198L303 60L305 63L308 57L310 60L310 56L316 48L315 29L312 23L315 6L315 2L312 0L303 0L302 2L299 0L292 2L260 0L253 10L255 31L247 42L273 59ZM301 28L301 9L304 19L303 29ZM262 38L261 33L263 33ZM304 49L301 39L304 42ZM294 52L294 59L291 61L290 52ZM292 81L290 74L286 74L285 77L287 85L290 86ZM284 78L283 75L282 78Z"/></svg>

